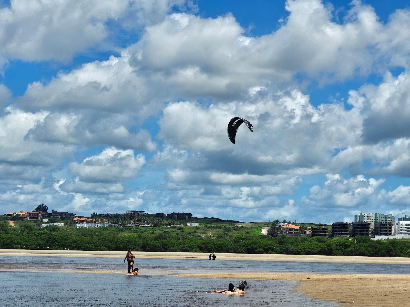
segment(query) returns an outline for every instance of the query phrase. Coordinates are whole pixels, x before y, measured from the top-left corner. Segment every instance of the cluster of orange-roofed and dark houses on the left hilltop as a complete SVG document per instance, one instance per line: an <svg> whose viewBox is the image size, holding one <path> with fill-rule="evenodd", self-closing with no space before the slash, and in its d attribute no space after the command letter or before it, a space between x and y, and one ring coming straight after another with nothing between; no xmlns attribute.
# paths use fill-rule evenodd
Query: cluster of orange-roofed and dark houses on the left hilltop
<svg viewBox="0 0 410 307"><path fill-rule="evenodd" d="M34 221L34 220L39 220L42 221L43 223L41 224L42 227L46 227L49 225L55 225L55 226L64 226L64 223L48 223L45 224L45 222L48 222L48 218L50 217L57 217L60 219L68 219L69 221L72 221L77 228L97 228L97 227L119 227L122 226L122 224L118 223L112 223L111 221L115 221L115 219L118 219L118 221L126 219L134 219L135 217L139 217L141 215L146 215L144 211L140 210L127 210L123 214L98 214L98 217L103 218L102 221L96 221L96 219L92 217L84 217L84 216L76 216L75 213L71 212L62 212L62 211L54 211L52 210L51 213L49 212L42 212L42 211L19 211L19 212L7 212L5 215L11 217L12 219L23 219L23 220L28 220L28 221ZM188 220L192 217L194 217L194 214L192 213L185 213L185 212L173 212L170 214L166 213L156 213L155 217L164 217L167 219L175 219L175 220ZM110 221L111 220L111 221ZM147 225L147 224L128 224L124 226L152 226L152 225Z"/></svg>

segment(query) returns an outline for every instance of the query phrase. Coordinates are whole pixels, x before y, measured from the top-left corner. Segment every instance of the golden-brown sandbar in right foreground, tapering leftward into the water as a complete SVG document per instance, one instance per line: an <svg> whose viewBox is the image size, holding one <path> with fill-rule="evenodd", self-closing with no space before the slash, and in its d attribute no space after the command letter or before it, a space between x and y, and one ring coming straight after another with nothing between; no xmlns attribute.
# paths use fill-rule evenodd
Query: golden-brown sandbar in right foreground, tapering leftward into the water
<svg viewBox="0 0 410 307"><path fill-rule="evenodd" d="M404 307L410 300L410 275L317 273L195 273L180 276L294 280L294 291L312 299L340 302L343 307ZM248 282L252 284L252 282Z"/></svg>

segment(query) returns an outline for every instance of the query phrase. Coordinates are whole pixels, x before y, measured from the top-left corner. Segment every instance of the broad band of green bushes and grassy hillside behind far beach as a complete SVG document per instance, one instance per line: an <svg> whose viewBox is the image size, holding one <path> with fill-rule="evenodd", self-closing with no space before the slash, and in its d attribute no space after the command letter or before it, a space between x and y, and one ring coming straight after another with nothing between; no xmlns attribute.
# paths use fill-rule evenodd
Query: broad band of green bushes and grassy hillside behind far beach
<svg viewBox="0 0 410 307"><path fill-rule="evenodd" d="M75 228L18 221L11 227L0 221L0 248L125 251L175 251L210 253L272 253L296 255L352 255L408 257L408 240L377 240L368 237L269 237L262 226L121 227Z"/></svg>

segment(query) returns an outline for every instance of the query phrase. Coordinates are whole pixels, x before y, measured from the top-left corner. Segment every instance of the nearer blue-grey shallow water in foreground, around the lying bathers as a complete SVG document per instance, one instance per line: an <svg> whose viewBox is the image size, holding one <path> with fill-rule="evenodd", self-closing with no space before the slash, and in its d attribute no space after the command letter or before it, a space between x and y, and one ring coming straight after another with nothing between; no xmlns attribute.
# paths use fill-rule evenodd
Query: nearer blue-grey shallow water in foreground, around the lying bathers
<svg viewBox="0 0 410 307"><path fill-rule="evenodd" d="M225 289L225 278L128 276L87 273L0 273L1 306L281 306L333 307L293 292L295 282L251 280L244 296L206 293ZM200 292L196 292L200 290Z"/></svg>

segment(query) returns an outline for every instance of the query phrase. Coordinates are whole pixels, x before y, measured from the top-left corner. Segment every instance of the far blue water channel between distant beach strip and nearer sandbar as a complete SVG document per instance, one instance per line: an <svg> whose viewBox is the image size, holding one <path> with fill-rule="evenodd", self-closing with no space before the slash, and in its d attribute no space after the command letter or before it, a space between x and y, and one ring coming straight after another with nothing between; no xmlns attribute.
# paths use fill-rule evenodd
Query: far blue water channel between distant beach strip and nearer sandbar
<svg viewBox="0 0 410 307"><path fill-rule="evenodd" d="M125 254L124 254L125 257ZM18 259L16 261L16 259ZM0 271L67 271L107 270L124 271L127 264L120 257L31 257L1 256ZM143 272L169 274L202 272L301 272L301 273L366 273L402 274L410 270L410 264L292 262L254 260L198 260L198 259L148 259L136 258L135 267Z"/></svg>

